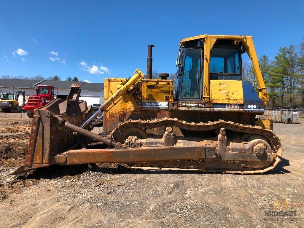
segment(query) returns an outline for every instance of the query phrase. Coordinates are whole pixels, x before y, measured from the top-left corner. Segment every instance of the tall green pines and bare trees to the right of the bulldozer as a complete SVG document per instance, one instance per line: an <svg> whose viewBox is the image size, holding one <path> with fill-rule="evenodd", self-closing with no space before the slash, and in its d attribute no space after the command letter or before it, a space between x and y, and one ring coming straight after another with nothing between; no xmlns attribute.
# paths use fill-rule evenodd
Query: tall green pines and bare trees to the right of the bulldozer
<svg viewBox="0 0 304 228"><path fill-rule="evenodd" d="M304 40L297 46L280 47L275 60L263 55L259 63L270 98L268 107L304 107ZM252 66L243 63L242 71L243 80L258 92Z"/></svg>

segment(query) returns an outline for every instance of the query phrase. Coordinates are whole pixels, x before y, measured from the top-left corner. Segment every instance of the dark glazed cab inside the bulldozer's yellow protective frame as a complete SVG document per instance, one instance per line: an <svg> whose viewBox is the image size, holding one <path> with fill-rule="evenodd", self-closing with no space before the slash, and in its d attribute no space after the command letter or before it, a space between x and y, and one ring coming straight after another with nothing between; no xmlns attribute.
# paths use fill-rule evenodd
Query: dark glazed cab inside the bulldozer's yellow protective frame
<svg viewBox="0 0 304 228"><path fill-rule="evenodd" d="M242 80L242 43L217 40L211 50L210 80ZM204 39L185 42L177 57L175 100L201 101L203 95ZM209 84L210 84L209 80Z"/></svg>

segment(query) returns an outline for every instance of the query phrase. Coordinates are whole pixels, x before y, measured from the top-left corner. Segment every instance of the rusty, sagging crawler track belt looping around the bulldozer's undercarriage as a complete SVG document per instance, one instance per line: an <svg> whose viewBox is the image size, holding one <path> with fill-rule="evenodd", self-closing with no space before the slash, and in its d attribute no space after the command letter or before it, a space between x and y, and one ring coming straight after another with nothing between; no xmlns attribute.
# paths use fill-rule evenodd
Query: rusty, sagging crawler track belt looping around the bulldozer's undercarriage
<svg viewBox="0 0 304 228"><path fill-rule="evenodd" d="M282 155L282 145L280 139L273 133L273 131L264 129L260 126L243 125L239 123L233 123L230 121L218 120L208 123L188 123L186 121L181 121L176 118L164 118L157 120L128 120L124 123L119 124L115 130L112 131L112 139L117 139L118 136L125 130L130 130L130 128L142 128L149 129L162 126L175 126L180 129L193 130L193 131L206 131L206 130L216 130L219 128L225 128L226 130L235 131L245 134L255 134L263 136L268 140L272 148L272 152L275 154L275 158L272 163L267 167L253 168L229 168L229 163L226 168L223 168L223 163L225 161L219 161L222 167L206 168L205 161L202 160L178 160L178 161L155 161L155 162L142 162L136 164L129 164L131 168L136 169L150 169L150 170L174 170L174 171L198 171L198 172L210 172L210 173L232 173L232 174L255 174L264 173L275 168L279 163L280 157ZM235 163L239 161L234 161Z"/></svg>

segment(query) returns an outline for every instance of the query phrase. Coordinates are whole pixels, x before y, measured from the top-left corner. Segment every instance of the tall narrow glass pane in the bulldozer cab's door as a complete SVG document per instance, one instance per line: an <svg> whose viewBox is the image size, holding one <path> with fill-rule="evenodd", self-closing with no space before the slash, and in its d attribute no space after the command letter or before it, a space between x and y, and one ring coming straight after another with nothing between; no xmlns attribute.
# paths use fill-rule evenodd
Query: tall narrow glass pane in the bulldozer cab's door
<svg viewBox="0 0 304 228"><path fill-rule="evenodd" d="M201 49L188 49L186 50L185 56L180 97L199 98L199 68L201 62Z"/></svg>

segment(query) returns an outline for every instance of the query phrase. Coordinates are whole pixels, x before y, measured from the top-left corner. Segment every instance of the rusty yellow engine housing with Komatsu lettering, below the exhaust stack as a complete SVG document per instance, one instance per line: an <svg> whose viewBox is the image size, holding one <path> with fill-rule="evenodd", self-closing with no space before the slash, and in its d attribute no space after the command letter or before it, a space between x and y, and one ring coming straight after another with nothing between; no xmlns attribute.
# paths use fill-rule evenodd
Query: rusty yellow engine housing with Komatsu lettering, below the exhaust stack
<svg viewBox="0 0 304 228"><path fill-rule="evenodd" d="M105 79L105 100L117 91L125 79ZM111 132L128 119L154 120L169 117L169 102L173 101L172 80L147 80L139 83L139 93L126 95L104 112L103 130ZM158 132L158 130L151 130ZM151 133L152 133L151 132Z"/></svg>

